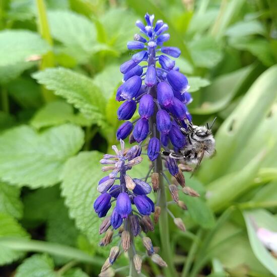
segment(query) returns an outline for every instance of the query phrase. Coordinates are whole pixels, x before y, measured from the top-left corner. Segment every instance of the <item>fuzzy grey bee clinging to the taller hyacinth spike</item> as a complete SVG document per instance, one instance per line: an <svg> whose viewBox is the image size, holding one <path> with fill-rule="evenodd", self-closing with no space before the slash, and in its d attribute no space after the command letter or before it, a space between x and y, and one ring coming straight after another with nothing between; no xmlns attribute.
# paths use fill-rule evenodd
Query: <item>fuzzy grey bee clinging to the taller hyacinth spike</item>
<svg viewBox="0 0 277 277"><path fill-rule="evenodd" d="M184 122L187 128L182 126L180 121L180 131L186 136L186 145L180 149L178 153L173 151L163 151L162 154L169 156L172 159L180 159L187 165L196 165L193 172L199 167L204 157L212 157L216 151L216 142L212 133L212 127L215 123L214 119L211 126L207 123L206 126L193 125L192 122L185 119Z"/></svg>

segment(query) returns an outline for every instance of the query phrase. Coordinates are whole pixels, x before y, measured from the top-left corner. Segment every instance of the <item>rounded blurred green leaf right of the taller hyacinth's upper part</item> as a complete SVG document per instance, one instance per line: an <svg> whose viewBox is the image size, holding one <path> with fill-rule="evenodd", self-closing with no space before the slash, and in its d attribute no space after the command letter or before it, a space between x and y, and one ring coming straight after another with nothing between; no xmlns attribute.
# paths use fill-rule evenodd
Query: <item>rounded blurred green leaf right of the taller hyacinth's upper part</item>
<svg viewBox="0 0 277 277"><path fill-rule="evenodd" d="M198 67L212 68L222 59L222 52L219 44L213 37L201 37L189 43L194 64Z"/></svg>

